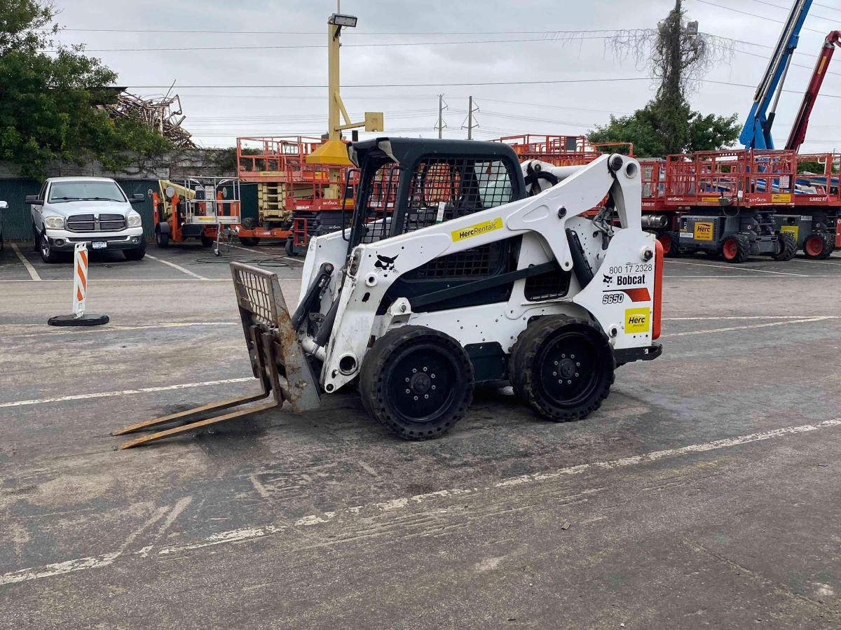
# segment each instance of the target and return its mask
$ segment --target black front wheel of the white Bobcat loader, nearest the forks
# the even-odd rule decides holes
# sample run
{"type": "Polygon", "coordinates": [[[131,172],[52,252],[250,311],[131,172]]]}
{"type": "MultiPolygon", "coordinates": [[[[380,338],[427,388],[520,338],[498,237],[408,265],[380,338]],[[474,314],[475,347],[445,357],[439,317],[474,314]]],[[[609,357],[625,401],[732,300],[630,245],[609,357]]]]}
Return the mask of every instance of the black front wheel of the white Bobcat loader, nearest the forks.
{"type": "MultiPolygon", "coordinates": [[[[420,365],[420,363],[419,363],[420,365]]],[[[424,365],[423,367],[426,367],[424,365]]],[[[411,368],[418,377],[424,375],[411,368]]],[[[421,368],[422,369],[422,368],[421,368]]],[[[411,378],[414,380],[415,376],[411,378]]],[[[440,386],[440,380],[438,386],[440,386]]],[[[394,328],[383,337],[377,339],[373,347],[368,350],[362,360],[362,371],[359,375],[359,394],[362,406],[389,431],[399,438],[407,440],[425,440],[438,438],[447,433],[455,423],[458,423],[467,412],[473,401],[473,364],[461,344],[449,335],[439,330],[425,326],[401,326],[394,328]],[[441,406],[430,410],[426,417],[410,417],[405,413],[406,408],[422,409],[423,402],[410,402],[408,396],[431,392],[436,386],[436,368],[432,368],[426,379],[418,379],[415,393],[404,394],[404,375],[409,370],[413,360],[418,360],[412,354],[416,352],[433,353],[425,357],[421,363],[433,360],[444,377],[447,386],[441,406]],[[399,388],[399,392],[397,391],[399,388]],[[398,396],[407,396],[400,400],[398,396]],[[401,409],[401,406],[404,408],[401,409]]],[[[431,394],[431,404],[435,404],[435,397],[441,394],[431,394]]]]}

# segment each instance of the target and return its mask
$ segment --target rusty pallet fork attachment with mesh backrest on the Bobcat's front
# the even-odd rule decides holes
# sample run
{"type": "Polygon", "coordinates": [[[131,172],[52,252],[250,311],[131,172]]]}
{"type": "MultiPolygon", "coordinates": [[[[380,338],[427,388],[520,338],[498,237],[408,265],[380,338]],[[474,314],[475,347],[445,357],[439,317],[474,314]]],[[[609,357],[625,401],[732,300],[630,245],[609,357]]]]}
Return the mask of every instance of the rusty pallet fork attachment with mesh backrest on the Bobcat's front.
{"type": "Polygon", "coordinates": [[[153,420],[121,428],[114,431],[112,435],[155,430],[164,425],[180,423],[177,426],[130,440],[121,444],[120,449],[131,449],[211,424],[246,417],[273,407],[280,407],[284,401],[289,402],[295,412],[304,412],[319,406],[318,381],[310,369],[304,349],[301,348],[297,333],[292,326],[277,274],[241,263],[231,263],[230,270],[234,276],[234,289],[240,309],[242,330],[246,336],[248,354],[251,356],[251,370],[255,378],[260,380],[260,393],[193,407],[183,412],[156,417],[153,420]],[[262,400],[270,395],[274,397],[273,402],[237,409],[218,416],[203,417],[210,412],[238,407],[248,402],[262,400]]]}

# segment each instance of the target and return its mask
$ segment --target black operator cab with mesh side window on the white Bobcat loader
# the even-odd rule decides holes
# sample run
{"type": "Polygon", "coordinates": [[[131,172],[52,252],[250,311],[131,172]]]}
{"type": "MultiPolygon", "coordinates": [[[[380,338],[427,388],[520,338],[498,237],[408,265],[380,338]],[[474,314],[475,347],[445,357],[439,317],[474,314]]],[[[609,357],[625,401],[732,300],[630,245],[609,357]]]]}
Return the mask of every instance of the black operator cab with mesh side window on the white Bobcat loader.
{"type": "MultiPolygon", "coordinates": [[[[463,140],[378,138],[352,144],[360,167],[348,255],[374,243],[436,223],[502,206],[527,196],[517,155],[507,144],[463,140]]],[[[516,270],[521,237],[431,260],[399,277],[383,297],[384,311],[398,297],[410,300],[516,270]]],[[[426,306],[428,311],[503,301],[513,283],[426,306]]]]}

